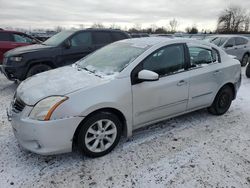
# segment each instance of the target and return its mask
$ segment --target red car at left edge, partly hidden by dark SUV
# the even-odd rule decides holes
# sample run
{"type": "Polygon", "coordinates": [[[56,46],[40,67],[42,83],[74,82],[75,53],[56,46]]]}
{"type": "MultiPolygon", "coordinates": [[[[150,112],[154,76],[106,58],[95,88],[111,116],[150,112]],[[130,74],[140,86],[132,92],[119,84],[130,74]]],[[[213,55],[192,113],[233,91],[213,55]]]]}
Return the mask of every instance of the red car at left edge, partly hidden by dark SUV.
{"type": "Polygon", "coordinates": [[[3,54],[11,49],[27,46],[31,44],[39,44],[40,41],[17,31],[0,30],[0,64],[3,61],[3,54]]]}

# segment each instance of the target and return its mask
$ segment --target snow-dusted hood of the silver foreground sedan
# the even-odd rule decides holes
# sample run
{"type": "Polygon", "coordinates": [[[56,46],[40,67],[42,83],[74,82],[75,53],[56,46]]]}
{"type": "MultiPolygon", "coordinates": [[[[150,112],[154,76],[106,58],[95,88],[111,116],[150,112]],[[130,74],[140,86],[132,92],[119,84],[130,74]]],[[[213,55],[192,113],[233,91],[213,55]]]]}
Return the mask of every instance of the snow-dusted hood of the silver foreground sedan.
{"type": "Polygon", "coordinates": [[[80,89],[89,89],[109,82],[111,77],[100,77],[74,66],[66,66],[37,74],[23,81],[17,88],[16,97],[27,105],[56,95],[67,95],[80,89]]]}

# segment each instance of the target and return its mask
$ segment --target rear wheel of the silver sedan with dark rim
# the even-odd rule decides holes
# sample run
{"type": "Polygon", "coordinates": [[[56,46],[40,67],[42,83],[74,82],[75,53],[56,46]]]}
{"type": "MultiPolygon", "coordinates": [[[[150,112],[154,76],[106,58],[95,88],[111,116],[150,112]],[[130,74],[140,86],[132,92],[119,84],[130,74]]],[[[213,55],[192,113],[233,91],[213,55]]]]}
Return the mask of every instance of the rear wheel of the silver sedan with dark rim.
{"type": "Polygon", "coordinates": [[[219,90],[213,104],[208,108],[208,112],[213,115],[223,115],[230,108],[232,100],[232,88],[226,85],[219,90]]]}

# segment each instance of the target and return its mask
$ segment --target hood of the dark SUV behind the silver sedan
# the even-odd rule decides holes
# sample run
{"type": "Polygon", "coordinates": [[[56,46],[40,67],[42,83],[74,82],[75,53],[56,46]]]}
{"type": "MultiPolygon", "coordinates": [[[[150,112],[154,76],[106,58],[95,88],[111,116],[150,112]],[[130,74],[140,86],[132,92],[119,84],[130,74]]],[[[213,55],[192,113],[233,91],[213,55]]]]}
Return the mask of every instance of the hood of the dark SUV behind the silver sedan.
{"type": "Polygon", "coordinates": [[[42,44],[22,46],[22,47],[14,48],[6,52],[5,57],[17,56],[17,55],[24,54],[24,53],[30,53],[30,52],[35,52],[35,51],[40,51],[40,50],[45,50],[45,49],[50,49],[50,48],[54,48],[54,47],[46,46],[42,44]]]}

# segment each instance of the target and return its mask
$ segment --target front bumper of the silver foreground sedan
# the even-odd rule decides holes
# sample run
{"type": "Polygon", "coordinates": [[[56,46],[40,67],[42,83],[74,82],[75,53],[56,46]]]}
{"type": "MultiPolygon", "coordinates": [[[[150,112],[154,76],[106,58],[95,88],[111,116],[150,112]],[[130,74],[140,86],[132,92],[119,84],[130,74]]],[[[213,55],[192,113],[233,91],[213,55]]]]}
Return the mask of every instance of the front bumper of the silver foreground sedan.
{"type": "Polygon", "coordinates": [[[75,130],[83,119],[70,117],[37,121],[18,114],[11,114],[9,118],[18,143],[24,149],[41,155],[71,152],[75,130]]]}

